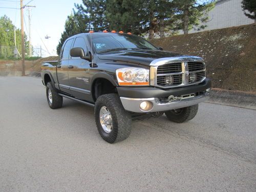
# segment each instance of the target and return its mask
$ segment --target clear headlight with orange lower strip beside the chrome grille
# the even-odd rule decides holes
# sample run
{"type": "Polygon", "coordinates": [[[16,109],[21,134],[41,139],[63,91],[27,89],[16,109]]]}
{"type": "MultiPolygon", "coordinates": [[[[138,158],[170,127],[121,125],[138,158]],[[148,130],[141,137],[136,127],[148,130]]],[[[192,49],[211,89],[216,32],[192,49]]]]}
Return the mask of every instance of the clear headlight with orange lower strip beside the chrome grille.
{"type": "Polygon", "coordinates": [[[127,67],[116,70],[119,86],[149,86],[150,70],[127,67]]]}

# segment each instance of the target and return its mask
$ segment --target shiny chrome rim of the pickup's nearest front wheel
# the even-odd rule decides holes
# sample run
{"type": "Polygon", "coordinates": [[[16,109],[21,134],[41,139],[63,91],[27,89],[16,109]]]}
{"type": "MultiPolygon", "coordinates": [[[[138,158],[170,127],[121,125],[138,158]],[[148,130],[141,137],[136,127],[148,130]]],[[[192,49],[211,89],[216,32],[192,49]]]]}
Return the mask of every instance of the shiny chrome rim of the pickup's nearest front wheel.
{"type": "Polygon", "coordinates": [[[99,111],[99,120],[100,124],[102,126],[102,129],[106,133],[111,133],[112,132],[112,116],[108,108],[105,106],[102,106],[99,111]]]}

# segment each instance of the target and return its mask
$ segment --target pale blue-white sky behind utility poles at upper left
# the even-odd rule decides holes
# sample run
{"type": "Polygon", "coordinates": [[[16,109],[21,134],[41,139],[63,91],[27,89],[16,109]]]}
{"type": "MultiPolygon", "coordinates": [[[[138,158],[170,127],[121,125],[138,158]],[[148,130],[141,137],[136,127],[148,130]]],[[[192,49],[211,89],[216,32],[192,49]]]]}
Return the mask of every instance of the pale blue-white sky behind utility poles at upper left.
{"type": "MultiPolygon", "coordinates": [[[[57,55],[56,47],[64,30],[67,16],[75,7],[74,3],[82,4],[82,0],[24,0],[23,5],[36,6],[31,8],[31,42],[33,48],[41,46],[43,57],[57,55]],[[46,39],[47,35],[51,38],[46,39]]],[[[0,0],[0,7],[19,8],[20,0],[0,0]]],[[[4,15],[7,15],[16,28],[20,29],[19,9],[0,8],[0,17],[4,15]]],[[[24,30],[28,35],[28,8],[24,9],[24,19],[24,30]]]]}

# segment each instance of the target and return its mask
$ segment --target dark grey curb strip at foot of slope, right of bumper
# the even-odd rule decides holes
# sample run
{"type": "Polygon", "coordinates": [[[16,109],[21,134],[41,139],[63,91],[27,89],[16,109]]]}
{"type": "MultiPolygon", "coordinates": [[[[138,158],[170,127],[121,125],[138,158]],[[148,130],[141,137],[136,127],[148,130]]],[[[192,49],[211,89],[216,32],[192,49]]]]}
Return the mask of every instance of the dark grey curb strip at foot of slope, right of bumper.
{"type": "Polygon", "coordinates": [[[206,102],[256,110],[256,94],[247,92],[212,89],[206,102]]]}

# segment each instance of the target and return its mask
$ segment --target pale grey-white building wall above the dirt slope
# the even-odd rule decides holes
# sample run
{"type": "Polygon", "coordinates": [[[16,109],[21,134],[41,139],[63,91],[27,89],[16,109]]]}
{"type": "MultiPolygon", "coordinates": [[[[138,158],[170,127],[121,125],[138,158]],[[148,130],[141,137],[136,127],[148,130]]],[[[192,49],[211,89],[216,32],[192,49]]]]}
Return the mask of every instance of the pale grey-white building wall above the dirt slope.
{"type": "MultiPolygon", "coordinates": [[[[208,14],[209,22],[205,24],[207,27],[200,31],[222,29],[254,23],[253,19],[245,16],[241,7],[241,2],[242,0],[217,0],[215,8],[212,9],[208,14]]],[[[190,30],[189,33],[200,31],[193,29],[190,30]]]]}

